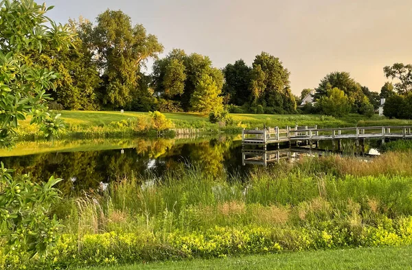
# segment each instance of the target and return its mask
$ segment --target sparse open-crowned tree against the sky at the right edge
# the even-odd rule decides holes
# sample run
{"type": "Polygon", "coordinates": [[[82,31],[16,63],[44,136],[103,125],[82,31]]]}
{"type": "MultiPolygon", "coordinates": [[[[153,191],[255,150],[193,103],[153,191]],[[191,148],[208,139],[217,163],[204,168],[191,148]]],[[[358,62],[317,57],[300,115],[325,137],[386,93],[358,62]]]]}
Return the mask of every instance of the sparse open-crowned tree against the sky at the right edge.
{"type": "Polygon", "coordinates": [[[387,78],[399,80],[395,84],[398,94],[412,92],[412,64],[395,63],[392,66],[385,66],[383,72],[387,78]]]}

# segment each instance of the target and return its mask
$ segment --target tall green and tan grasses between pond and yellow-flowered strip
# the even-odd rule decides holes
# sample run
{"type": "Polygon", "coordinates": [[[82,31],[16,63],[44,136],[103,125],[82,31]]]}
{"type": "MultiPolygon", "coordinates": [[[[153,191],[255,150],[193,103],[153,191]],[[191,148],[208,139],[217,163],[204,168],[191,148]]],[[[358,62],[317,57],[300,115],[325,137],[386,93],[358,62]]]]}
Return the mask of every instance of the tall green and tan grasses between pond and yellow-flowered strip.
{"type": "Polygon", "coordinates": [[[306,158],[257,169],[244,179],[214,177],[201,166],[186,165],[160,178],[130,175],[105,192],[58,206],[71,209],[69,214],[56,212],[67,221],[69,232],[79,234],[319,225],[347,220],[354,211],[356,222],[374,223],[378,217],[412,215],[409,156],[411,152],[388,153],[371,161],[306,158]]]}

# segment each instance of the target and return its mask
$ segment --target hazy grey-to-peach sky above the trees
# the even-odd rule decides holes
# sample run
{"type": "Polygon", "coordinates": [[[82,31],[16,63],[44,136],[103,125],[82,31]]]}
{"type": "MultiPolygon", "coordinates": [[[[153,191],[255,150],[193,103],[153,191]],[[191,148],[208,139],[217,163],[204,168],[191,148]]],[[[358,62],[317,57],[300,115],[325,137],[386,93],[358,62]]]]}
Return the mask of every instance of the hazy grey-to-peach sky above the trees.
{"type": "MultiPolygon", "coordinates": [[[[122,10],[165,47],[201,53],[222,68],[262,51],[290,71],[293,93],[315,88],[332,71],[347,71],[370,90],[388,81],[383,67],[412,63],[411,0],[46,0],[65,23],[95,21],[122,10]]],[[[149,62],[149,65],[151,62],[149,62]]]]}

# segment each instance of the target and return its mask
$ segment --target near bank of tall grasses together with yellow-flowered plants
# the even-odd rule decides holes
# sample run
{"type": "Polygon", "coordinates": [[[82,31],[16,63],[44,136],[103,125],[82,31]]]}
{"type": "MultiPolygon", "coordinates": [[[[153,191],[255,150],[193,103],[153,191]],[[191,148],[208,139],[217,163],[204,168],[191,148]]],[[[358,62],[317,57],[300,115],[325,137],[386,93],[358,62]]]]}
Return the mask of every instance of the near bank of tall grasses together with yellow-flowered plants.
{"type": "Polygon", "coordinates": [[[410,245],[411,155],[306,158],[244,178],[185,164],[161,178],[128,175],[54,205],[65,228],[47,257],[4,255],[2,245],[0,265],[60,269],[410,245]]]}

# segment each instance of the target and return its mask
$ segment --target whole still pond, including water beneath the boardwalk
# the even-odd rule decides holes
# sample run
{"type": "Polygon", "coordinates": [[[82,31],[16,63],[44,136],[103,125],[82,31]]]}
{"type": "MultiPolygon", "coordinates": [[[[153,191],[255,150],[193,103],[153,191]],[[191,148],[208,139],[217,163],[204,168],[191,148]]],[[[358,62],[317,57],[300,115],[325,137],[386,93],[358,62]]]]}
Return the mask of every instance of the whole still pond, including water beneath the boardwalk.
{"type": "MultiPolygon", "coordinates": [[[[360,149],[353,141],[344,141],[339,153],[378,154],[375,145],[376,142],[370,141],[360,149]]],[[[332,142],[324,141],[317,149],[289,149],[285,145],[279,152],[288,160],[296,160],[302,156],[328,154],[330,149],[332,142]]],[[[36,181],[47,180],[51,175],[61,177],[71,182],[76,191],[98,188],[101,183],[130,175],[161,177],[190,164],[197,164],[216,177],[242,177],[257,166],[242,160],[240,136],[25,142],[10,151],[1,150],[0,161],[16,173],[30,173],[36,181]]]]}

